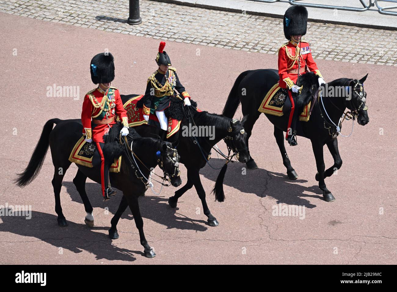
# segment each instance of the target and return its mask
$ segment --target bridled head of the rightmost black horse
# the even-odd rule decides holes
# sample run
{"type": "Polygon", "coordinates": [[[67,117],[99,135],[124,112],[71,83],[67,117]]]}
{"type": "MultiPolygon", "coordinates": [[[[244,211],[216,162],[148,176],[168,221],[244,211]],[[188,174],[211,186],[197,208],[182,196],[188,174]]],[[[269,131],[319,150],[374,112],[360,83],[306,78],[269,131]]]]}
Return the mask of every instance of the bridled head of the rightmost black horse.
{"type": "Polygon", "coordinates": [[[367,79],[367,76],[368,74],[360,80],[351,80],[347,89],[349,91],[349,96],[345,99],[346,107],[357,117],[358,124],[362,126],[368,124],[370,121],[367,113],[368,106],[365,104],[367,93],[364,90],[364,81],[367,79]]]}

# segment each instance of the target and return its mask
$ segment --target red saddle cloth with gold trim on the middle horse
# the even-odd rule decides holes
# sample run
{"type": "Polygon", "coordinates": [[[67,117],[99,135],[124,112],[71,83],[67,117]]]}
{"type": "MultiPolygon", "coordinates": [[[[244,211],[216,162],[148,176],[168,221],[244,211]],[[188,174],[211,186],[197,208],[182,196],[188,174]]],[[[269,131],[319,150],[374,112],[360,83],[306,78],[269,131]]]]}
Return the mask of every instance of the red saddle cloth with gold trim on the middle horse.
{"type": "MultiPolygon", "coordinates": [[[[130,127],[141,126],[143,124],[148,123],[143,118],[143,108],[137,107],[137,102],[142,97],[143,95],[138,95],[136,97],[133,97],[132,99],[129,99],[124,104],[124,108],[127,111],[128,125],[130,127]]],[[[158,118],[155,114],[150,114],[149,119],[157,123],[158,126],[160,127],[160,123],[158,122],[158,118]]],[[[178,121],[173,118],[168,118],[167,138],[170,138],[173,134],[179,131],[180,126],[181,126],[181,121],[178,121]]]]}

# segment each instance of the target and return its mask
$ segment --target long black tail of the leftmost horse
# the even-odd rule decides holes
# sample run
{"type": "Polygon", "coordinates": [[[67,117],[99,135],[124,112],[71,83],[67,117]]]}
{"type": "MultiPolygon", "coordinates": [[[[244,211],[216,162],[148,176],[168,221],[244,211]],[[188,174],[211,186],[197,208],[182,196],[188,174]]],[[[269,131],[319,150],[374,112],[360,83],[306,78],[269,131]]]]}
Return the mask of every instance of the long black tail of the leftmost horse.
{"type": "Polygon", "coordinates": [[[17,174],[14,183],[19,187],[24,187],[30,184],[39,174],[44,158],[46,157],[48,145],[50,143],[49,137],[54,124],[59,123],[60,119],[51,119],[46,122],[41,132],[39,142],[33,151],[29,164],[22,173],[17,174]]]}

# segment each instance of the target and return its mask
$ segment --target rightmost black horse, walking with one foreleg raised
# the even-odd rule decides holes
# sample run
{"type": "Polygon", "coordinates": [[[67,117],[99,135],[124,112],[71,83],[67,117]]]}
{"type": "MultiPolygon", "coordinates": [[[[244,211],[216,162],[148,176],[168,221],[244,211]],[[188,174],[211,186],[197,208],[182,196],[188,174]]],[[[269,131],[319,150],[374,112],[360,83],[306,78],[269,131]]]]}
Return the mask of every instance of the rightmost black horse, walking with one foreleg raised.
{"type": "MultiPolygon", "coordinates": [[[[358,124],[362,126],[369,122],[366,110],[367,107],[365,105],[366,92],[363,88],[363,83],[367,75],[360,80],[340,78],[328,83],[324,86],[322,92],[327,88],[329,90],[335,89],[333,91],[334,96],[331,97],[330,94],[327,94],[328,97],[324,97],[321,95],[324,98],[319,98],[318,102],[314,104],[310,120],[308,122],[297,122],[297,135],[310,139],[312,143],[317,166],[316,180],[319,182],[318,186],[323,191],[324,199],[328,202],[334,201],[335,198],[327,189],[324,179],[331,176],[333,172],[342,165],[336,139],[338,135],[336,126],[340,128],[341,124],[339,124],[339,120],[343,112],[348,108],[353,115],[353,119],[357,117],[358,124]],[[346,94],[349,92],[350,97],[349,94],[346,94]],[[334,160],[333,166],[327,170],[325,170],[323,157],[324,145],[327,145],[334,160]]],[[[278,80],[279,75],[277,70],[258,69],[245,71],[237,77],[229,93],[223,114],[232,118],[241,102],[243,114],[249,115],[248,120],[245,122],[247,146],[249,145],[248,140],[252,133],[252,127],[260,116],[258,108],[266,93],[278,80]]],[[[318,89],[318,77],[313,73],[306,73],[299,77],[298,85],[303,85],[302,94],[298,97],[297,101],[297,108],[301,109],[302,105],[307,103],[307,101],[313,97],[314,93],[316,93],[318,89]]],[[[314,103],[314,100],[312,103],[314,103]]],[[[283,116],[274,116],[270,114],[265,114],[265,116],[274,125],[274,137],[276,138],[281,156],[283,157],[284,166],[287,168],[288,178],[295,180],[298,176],[291,166],[291,162],[289,161],[284,147],[283,131],[287,130],[289,113],[284,112],[283,116]]],[[[247,167],[250,169],[257,168],[252,156],[247,162],[247,167]]]]}

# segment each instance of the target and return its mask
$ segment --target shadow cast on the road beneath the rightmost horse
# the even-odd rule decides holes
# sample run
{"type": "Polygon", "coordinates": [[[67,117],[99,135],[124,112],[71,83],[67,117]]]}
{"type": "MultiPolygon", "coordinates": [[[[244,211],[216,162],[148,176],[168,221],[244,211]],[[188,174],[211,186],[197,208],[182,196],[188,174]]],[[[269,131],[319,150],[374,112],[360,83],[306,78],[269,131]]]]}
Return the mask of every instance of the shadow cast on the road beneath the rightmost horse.
{"type": "MultiPolygon", "coordinates": [[[[225,162],[223,159],[211,159],[210,163],[213,167],[221,167],[225,162]]],[[[262,168],[247,169],[246,174],[243,174],[243,167],[245,167],[245,164],[240,162],[229,163],[224,185],[233,187],[242,193],[254,193],[258,197],[273,197],[277,200],[277,203],[301,205],[306,208],[316,207],[306,198],[323,199],[322,191],[317,185],[305,187],[300,184],[306,183],[307,180],[290,180],[286,174],[271,172],[262,168]]],[[[207,164],[200,171],[200,174],[215,182],[219,170],[213,170],[207,164]]],[[[209,193],[210,190],[206,191],[209,193]]],[[[225,193],[225,196],[227,199],[227,193],[225,193]]]]}

